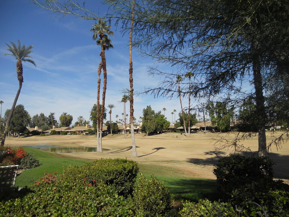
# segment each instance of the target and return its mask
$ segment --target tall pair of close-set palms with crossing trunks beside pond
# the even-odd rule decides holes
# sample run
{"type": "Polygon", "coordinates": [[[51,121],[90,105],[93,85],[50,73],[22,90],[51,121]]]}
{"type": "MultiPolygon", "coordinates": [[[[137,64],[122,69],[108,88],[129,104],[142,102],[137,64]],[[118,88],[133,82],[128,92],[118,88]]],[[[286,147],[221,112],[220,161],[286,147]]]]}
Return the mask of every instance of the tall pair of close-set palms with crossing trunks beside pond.
{"type": "Polygon", "coordinates": [[[102,124],[103,124],[103,115],[104,115],[104,104],[105,104],[105,94],[106,94],[106,85],[107,85],[107,71],[106,71],[106,59],[105,59],[105,50],[113,48],[111,45],[111,40],[107,36],[114,36],[113,32],[109,29],[110,25],[106,25],[106,21],[98,20],[97,24],[92,25],[94,34],[92,36],[93,40],[96,40],[96,44],[101,46],[101,62],[98,65],[98,88],[97,88],[97,151],[102,152],[102,124]],[[98,39],[99,36],[99,39],[98,39]],[[103,89],[102,89],[102,104],[101,104],[101,114],[99,115],[99,98],[100,98],[100,74],[101,69],[103,71],[103,89]]]}

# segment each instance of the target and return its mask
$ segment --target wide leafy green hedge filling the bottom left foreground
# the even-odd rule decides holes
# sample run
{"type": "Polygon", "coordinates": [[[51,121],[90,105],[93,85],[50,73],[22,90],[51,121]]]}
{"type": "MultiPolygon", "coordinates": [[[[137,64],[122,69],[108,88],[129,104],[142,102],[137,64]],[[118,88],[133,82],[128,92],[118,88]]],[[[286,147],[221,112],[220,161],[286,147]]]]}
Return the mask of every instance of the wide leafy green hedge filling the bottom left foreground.
{"type": "Polygon", "coordinates": [[[0,216],[136,216],[132,202],[103,184],[34,185],[32,192],[23,189],[17,194],[0,202],[0,216]]]}

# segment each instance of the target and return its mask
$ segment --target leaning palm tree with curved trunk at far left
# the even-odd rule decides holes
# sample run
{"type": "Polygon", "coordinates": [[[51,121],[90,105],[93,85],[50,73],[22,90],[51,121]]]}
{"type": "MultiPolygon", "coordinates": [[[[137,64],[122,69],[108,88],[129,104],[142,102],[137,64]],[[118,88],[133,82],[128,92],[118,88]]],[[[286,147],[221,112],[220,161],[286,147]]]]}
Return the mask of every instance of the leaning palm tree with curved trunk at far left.
{"type": "Polygon", "coordinates": [[[16,96],[15,96],[12,108],[10,110],[9,116],[7,118],[6,127],[5,127],[3,138],[2,138],[2,141],[1,141],[1,146],[4,146],[5,137],[7,135],[8,127],[10,125],[10,121],[11,121],[11,118],[12,118],[12,115],[13,115],[13,112],[14,112],[14,109],[15,109],[19,94],[20,94],[22,83],[23,83],[22,61],[23,62],[30,62],[30,63],[32,63],[33,65],[36,66],[35,62],[33,60],[31,60],[31,56],[29,55],[31,52],[33,52],[31,50],[33,48],[32,45],[27,46],[27,47],[26,47],[26,45],[23,45],[21,47],[21,43],[20,43],[19,40],[18,40],[18,45],[17,46],[13,42],[11,42],[12,46],[10,46],[8,44],[6,44],[6,45],[8,46],[7,50],[10,51],[11,53],[6,53],[5,55],[14,56],[16,58],[16,60],[17,60],[17,62],[16,62],[16,72],[17,72],[17,78],[18,78],[18,81],[19,81],[19,88],[18,88],[18,91],[16,93],[16,96]]]}

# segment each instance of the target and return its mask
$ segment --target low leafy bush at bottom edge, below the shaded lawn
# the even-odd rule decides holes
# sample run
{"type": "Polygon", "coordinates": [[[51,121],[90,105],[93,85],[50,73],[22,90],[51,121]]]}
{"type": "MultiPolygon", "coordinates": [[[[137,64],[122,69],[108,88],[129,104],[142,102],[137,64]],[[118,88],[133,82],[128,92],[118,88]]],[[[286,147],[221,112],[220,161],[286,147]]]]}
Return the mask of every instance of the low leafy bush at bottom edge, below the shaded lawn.
{"type": "Polygon", "coordinates": [[[229,203],[210,200],[199,200],[198,203],[183,203],[183,209],[179,212],[181,217],[237,217],[236,210],[229,203]]]}

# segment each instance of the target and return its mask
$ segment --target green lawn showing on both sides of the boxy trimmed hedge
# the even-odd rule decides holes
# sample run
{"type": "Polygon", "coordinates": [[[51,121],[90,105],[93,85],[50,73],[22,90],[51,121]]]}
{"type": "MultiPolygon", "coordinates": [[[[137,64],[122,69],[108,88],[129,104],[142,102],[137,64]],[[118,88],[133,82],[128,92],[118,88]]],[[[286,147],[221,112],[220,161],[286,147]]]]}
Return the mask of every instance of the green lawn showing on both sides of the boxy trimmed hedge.
{"type": "MultiPolygon", "coordinates": [[[[61,154],[45,152],[33,148],[24,148],[27,152],[36,153],[40,166],[25,170],[17,176],[16,186],[24,187],[33,184],[44,173],[61,173],[66,165],[83,165],[88,160],[68,158],[61,154]]],[[[139,164],[140,172],[147,179],[153,174],[157,179],[163,180],[170,193],[176,200],[190,200],[197,202],[199,199],[217,199],[217,183],[210,179],[187,178],[174,168],[159,165],[139,164]]]]}

